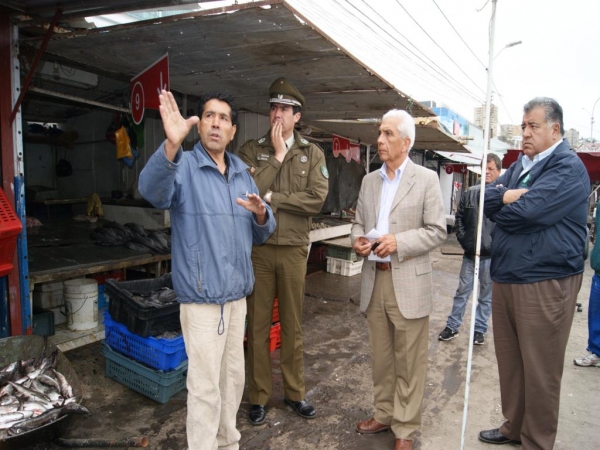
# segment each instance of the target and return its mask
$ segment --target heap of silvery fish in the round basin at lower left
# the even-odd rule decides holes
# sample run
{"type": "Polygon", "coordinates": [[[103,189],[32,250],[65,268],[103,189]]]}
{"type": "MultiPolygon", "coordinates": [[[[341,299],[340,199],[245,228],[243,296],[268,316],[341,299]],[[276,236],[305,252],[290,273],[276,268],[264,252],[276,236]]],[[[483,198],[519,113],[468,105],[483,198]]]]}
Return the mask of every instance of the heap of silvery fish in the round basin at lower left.
{"type": "Polygon", "coordinates": [[[0,439],[54,422],[65,414],[89,411],[56,370],[58,351],[49,357],[18,360],[0,369],[0,439]]]}

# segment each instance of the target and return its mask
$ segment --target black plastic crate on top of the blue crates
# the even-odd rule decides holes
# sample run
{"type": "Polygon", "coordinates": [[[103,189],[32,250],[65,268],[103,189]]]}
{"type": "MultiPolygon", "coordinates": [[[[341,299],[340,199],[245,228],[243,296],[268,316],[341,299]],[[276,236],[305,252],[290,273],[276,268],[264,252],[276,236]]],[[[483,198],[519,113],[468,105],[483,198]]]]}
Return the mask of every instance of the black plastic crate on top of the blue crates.
{"type": "Polygon", "coordinates": [[[163,287],[173,288],[171,274],[151,280],[106,280],[106,293],[110,298],[108,312],[113,320],[142,337],[180,330],[179,303],[163,308],[143,307],[133,299],[134,293],[145,294],[163,287]]]}

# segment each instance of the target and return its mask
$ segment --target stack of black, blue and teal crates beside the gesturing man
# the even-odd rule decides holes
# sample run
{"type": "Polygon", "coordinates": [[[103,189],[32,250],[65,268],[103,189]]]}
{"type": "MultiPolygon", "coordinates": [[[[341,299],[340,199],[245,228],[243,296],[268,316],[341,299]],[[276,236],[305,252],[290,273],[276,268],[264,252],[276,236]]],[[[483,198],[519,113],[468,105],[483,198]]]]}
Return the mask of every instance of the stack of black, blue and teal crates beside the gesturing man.
{"type": "Polygon", "coordinates": [[[106,376],[159,403],[167,403],[186,386],[187,354],[183,336],[156,338],[179,331],[179,303],[143,307],[134,295],[172,288],[171,275],[158,279],[106,281],[110,297],[104,313],[106,376]]]}

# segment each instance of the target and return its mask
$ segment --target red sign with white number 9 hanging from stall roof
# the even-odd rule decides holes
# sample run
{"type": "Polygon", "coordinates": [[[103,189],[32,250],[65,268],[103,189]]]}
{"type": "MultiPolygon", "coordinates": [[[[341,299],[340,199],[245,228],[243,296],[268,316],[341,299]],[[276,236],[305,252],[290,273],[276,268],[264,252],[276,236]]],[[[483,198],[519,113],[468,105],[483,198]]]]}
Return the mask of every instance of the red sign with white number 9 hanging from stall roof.
{"type": "Polygon", "coordinates": [[[169,90],[169,54],[131,79],[131,115],[138,125],[144,118],[146,108],[158,109],[158,96],[162,89],[169,90]]]}

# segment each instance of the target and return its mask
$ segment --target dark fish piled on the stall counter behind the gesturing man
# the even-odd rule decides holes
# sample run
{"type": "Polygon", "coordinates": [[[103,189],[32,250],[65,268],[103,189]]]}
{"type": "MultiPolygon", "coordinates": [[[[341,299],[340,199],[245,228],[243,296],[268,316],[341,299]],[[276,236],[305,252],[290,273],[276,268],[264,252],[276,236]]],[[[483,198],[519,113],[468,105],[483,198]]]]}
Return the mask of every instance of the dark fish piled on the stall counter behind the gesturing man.
{"type": "Polygon", "coordinates": [[[100,245],[125,245],[131,250],[166,255],[171,253],[171,236],[160,230],[146,230],[138,223],[107,222],[91,238],[100,245]]]}

